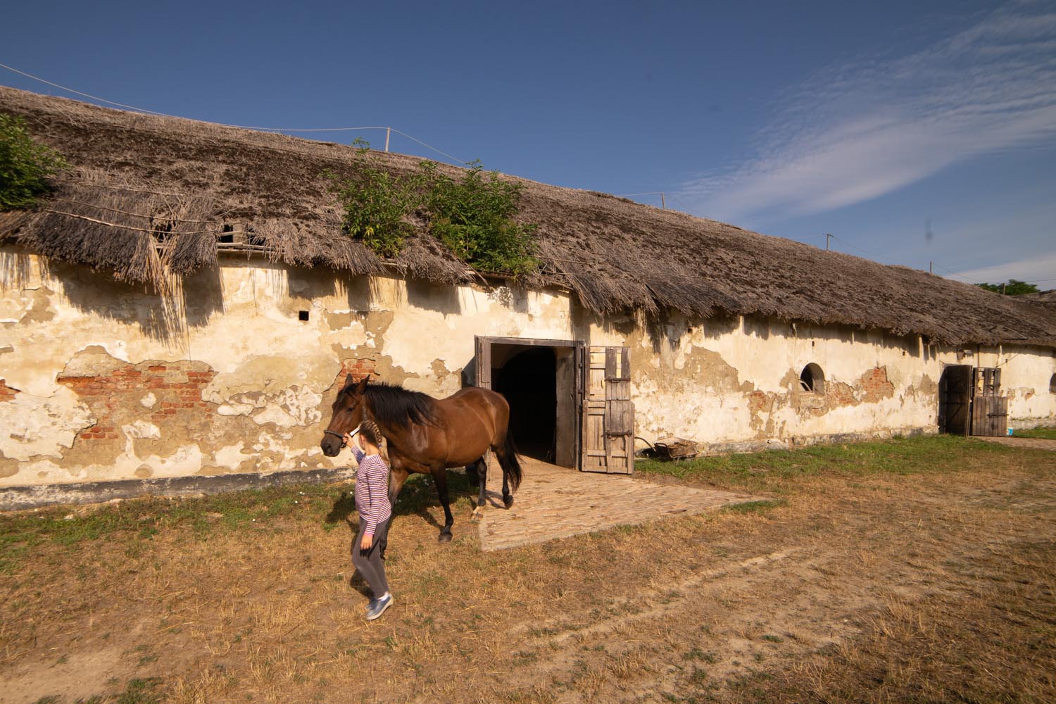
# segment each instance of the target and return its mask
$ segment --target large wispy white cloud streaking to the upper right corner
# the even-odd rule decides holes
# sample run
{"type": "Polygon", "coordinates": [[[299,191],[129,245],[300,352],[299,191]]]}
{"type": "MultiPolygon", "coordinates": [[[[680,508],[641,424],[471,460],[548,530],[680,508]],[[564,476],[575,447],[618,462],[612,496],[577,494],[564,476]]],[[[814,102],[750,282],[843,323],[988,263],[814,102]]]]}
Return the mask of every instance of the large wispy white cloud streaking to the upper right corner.
{"type": "Polygon", "coordinates": [[[678,196],[710,217],[790,216],[867,201],[957,161],[1056,136],[1056,9],[1018,2],[926,51],[799,85],[756,156],[678,196]]]}

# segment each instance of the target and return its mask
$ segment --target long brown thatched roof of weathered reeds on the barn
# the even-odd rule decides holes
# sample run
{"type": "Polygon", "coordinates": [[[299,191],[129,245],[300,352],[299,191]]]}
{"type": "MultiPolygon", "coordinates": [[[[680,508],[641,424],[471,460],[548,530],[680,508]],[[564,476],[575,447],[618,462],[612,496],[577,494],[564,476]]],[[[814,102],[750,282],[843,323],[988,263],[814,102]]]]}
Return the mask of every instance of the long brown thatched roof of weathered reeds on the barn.
{"type": "MultiPolygon", "coordinates": [[[[155,285],[212,266],[225,249],[352,274],[396,267],[437,283],[477,279],[425,232],[393,262],[341,233],[319,174],[350,173],[351,147],[2,87],[0,112],[23,116],[75,167],[38,211],[0,215],[0,239],[39,253],[155,285]],[[159,224],[168,229],[161,247],[159,224]]],[[[394,172],[420,160],[379,158],[394,172]]],[[[611,195],[524,183],[518,217],[539,224],[545,265],[524,284],[566,287],[599,313],[761,315],[948,344],[1056,347],[1056,316],[1042,306],[611,195]]]]}

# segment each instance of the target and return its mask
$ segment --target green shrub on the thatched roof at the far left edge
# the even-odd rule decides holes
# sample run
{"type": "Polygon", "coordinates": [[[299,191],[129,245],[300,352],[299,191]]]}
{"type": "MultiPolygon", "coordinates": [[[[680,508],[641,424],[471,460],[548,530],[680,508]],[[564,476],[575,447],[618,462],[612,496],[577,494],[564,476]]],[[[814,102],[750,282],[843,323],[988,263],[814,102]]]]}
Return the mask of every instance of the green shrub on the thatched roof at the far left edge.
{"type": "Polygon", "coordinates": [[[68,168],[61,154],[33,140],[21,117],[0,114],[0,211],[33,208],[48,177],[68,168]]]}

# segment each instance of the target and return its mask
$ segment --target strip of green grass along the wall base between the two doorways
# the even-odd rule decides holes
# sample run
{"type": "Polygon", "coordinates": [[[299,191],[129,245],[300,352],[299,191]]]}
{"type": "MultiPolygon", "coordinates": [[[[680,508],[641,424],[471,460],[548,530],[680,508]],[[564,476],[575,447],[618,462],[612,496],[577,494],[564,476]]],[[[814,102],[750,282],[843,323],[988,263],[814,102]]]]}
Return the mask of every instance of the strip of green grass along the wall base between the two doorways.
{"type": "MultiPolygon", "coordinates": [[[[703,481],[724,489],[787,493],[796,479],[817,475],[861,478],[875,475],[921,474],[963,469],[967,455],[999,456],[1007,448],[972,438],[934,435],[876,442],[813,445],[802,450],[698,457],[680,462],[639,459],[635,469],[703,481]]],[[[759,507],[765,508],[765,507],[759,507]]],[[[754,510],[754,509],[744,509],[754,510]]]]}

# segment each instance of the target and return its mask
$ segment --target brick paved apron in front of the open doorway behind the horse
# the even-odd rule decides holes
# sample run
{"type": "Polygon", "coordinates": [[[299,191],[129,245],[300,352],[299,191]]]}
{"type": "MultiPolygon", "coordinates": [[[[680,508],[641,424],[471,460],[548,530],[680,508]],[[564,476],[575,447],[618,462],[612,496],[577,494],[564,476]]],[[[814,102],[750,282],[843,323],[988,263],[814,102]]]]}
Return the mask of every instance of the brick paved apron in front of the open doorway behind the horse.
{"type": "Polygon", "coordinates": [[[675,514],[703,513],[753,499],[747,494],[578,472],[530,457],[522,457],[521,462],[524,481],[508,511],[502,508],[502,470],[494,460],[488,470],[489,501],[479,522],[484,551],[545,543],[675,514]]]}

